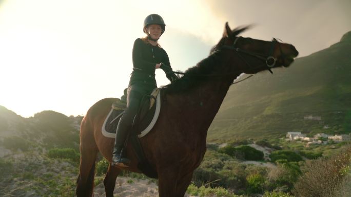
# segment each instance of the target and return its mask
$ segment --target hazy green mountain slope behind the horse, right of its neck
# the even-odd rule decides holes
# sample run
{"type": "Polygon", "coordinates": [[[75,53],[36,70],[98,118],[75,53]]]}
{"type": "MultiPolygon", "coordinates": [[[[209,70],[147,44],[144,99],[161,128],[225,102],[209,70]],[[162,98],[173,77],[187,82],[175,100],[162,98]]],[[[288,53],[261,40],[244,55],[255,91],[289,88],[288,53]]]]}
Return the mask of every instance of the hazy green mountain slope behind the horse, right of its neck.
{"type": "Polygon", "coordinates": [[[269,138],[286,132],[351,133],[351,32],[291,67],[232,85],[208,141],[269,138]],[[305,116],[321,120],[305,120],[305,116]]]}

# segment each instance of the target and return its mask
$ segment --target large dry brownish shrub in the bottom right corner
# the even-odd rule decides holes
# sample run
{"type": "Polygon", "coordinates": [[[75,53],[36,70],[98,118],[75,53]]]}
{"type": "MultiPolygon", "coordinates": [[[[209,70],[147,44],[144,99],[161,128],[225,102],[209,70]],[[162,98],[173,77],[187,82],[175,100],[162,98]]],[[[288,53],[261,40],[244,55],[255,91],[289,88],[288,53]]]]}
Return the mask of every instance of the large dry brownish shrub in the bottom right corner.
{"type": "Polygon", "coordinates": [[[330,158],[307,161],[303,175],[294,185],[294,194],[297,197],[340,197],[338,192],[349,176],[350,162],[351,146],[330,158]]]}

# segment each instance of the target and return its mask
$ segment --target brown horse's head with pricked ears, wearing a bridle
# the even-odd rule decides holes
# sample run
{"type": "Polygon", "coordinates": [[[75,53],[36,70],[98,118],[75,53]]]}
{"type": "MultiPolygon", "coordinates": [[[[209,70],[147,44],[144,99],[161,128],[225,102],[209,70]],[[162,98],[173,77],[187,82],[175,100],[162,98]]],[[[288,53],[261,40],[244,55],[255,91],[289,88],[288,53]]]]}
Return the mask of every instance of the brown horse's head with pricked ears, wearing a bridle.
{"type": "MultiPolygon", "coordinates": [[[[243,73],[257,73],[276,67],[288,67],[299,52],[293,45],[272,41],[263,41],[238,36],[249,27],[231,30],[228,23],[225,24],[223,37],[213,50],[226,50],[238,56],[243,62],[239,66],[243,73]]],[[[230,55],[232,55],[230,54],[230,55]]],[[[234,62],[233,62],[234,63],[234,62]]]]}

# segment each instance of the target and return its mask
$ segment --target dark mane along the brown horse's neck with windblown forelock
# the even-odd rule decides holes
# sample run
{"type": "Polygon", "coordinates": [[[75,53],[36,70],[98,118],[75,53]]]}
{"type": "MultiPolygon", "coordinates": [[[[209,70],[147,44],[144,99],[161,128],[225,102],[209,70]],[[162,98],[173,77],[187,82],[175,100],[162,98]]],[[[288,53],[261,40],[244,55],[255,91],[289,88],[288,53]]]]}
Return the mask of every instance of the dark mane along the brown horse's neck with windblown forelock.
{"type": "MultiPolygon", "coordinates": [[[[239,27],[232,31],[230,36],[237,36],[248,29],[249,26],[239,27]]],[[[167,93],[181,93],[191,90],[192,87],[198,86],[202,81],[208,79],[210,75],[222,68],[216,67],[222,63],[222,53],[220,47],[224,44],[225,38],[221,40],[210,50],[210,55],[197,63],[194,67],[189,68],[184,72],[184,75],[177,81],[166,85],[167,93]]],[[[212,77],[213,78],[213,77],[212,77]]]]}

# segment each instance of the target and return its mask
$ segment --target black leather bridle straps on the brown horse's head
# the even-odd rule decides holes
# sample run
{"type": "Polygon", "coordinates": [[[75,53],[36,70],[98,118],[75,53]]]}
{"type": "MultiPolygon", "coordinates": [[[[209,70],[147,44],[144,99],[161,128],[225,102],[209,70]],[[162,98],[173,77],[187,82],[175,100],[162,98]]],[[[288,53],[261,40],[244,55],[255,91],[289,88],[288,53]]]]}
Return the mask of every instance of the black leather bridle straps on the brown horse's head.
{"type": "MultiPolygon", "coordinates": [[[[250,55],[250,56],[253,56],[253,57],[256,57],[262,61],[265,62],[265,65],[267,66],[267,69],[270,73],[273,74],[273,72],[270,70],[271,68],[273,68],[275,65],[276,65],[276,62],[277,62],[277,58],[275,58],[273,56],[273,53],[274,53],[274,49],[276,47],[276,45],[279,43],[278,40],[276,38],[273,38],[272,40],[272,44],[271,44],[271,47],[270,47],[270,50],[269,50],[269,53],[268,55],[263,55],[263,54],[260,54],[260,53],[253,53],[253,52],[250,52],[250,51],[246,51],[246,50],[243,50],[243,49],[240,49],[238,47],[236,47],[236,43],[237,41],[239,40],[239,38],[242,38],[241,36],[240,37],[237,37],[234,42],[233,42],[233,45],[232,46],[227,46],[227,45],[224,45],[222,46],[221,48],[222,49],[229,49],[229,50],[233,50],[235,52],[238,53],[239,57],[250,67],[251,70],[253,69],[256,69],[258,67],[260,67],[261,65],[259,65],[258,67],[252,67],[247,61],[246,59],[240,55],[240,53],[243,53],[243,54],[247,54],[247,55],[250,55]]],[[[282,51],[282,48],[279,46],[279,49],[280,49],[280,53],[282,55],[282,57],[284,57],[284,54],[283,54],[283,51],[282,51]]],[[[284,58],[283,58],[283,61],[284,61],[284,58]]]]}

